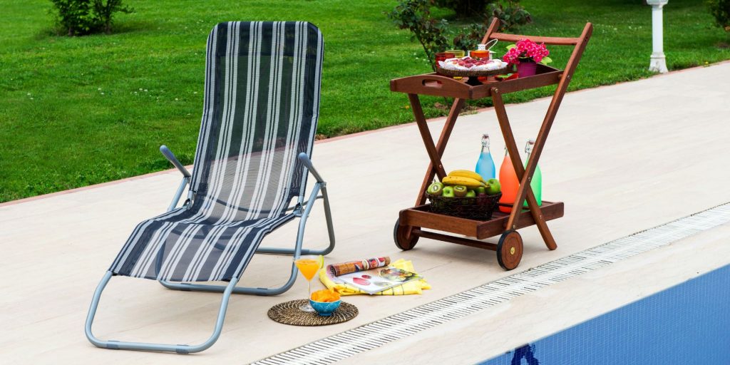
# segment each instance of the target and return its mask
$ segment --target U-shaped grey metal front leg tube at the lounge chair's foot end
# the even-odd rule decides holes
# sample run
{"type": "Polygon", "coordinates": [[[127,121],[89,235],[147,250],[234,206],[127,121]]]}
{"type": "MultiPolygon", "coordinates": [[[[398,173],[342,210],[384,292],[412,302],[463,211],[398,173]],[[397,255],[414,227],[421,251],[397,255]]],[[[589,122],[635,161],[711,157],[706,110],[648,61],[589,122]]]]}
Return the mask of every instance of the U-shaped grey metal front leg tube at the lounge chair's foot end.
{"type": "Polygon", "coordinates": [[[210,337],[199,345],[168,345],[168,344],[156,344],[147,342],[124,342],[114,340],[101,340],[96,338],[91,331],[91,325],[93,323],[94,315],[96,315],[96,308],[99,306],[99,299],[101,298],[101,292],[109,283],[112,278],[112,272],[108,271],[101,278],[101,282],[96,287],[96,291],[93,293],[93,299],[91,299],[91,307],[89,307],[88,315],[86,316],[85,334],[86,338],[96,347],[108,348],[112,350],[144,350],[144,351],[165,351],[170,353],[199,353],[202,350],[211,347],[215,341],[220,337],[220,331],[223,330],[223,320],[226,319],[226,310],[228,309],[228,299],[231,298],[231,293],[238,283],[238,278],[234,277],[231,282],[226,285],[223,291],[223,298],[220,300],[220,310],[218,310],[218,318],[215,320],[215,327],[210,337]]]}

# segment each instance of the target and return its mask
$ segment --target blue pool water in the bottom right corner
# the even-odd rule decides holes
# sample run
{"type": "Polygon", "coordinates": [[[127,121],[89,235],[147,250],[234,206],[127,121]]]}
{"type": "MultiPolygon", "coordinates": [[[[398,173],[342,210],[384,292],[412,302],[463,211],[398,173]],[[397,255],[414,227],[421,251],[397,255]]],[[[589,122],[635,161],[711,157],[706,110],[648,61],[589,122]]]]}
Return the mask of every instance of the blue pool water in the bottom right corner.
{"type": "Polygon", "coordinates": [[[730,265],[481,364],[730,364],[730,265]]]}

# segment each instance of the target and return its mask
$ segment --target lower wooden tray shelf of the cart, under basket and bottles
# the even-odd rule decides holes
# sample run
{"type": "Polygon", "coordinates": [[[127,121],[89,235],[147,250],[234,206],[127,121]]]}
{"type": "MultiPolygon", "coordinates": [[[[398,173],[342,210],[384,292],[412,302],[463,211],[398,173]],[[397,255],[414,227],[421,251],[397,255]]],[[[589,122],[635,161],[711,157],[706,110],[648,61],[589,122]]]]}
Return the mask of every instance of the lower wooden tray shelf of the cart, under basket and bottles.
{"type": "MultiPolygon", "coordinates": [[[[561,201],[542,201],[540,211],[542,212],[542,217],[546,221],[561,218],[564,212],[564,204],[561,201]]],[[[420,228],[429,228],[437,231],[450,232],[453,234],[463,234],[464,236],[476,237],[477,239],[485,239],[504,233],[504,231],[507,230],[505,225],[507,224],[507,220],[509,218],[509,213],[500,212],[499,210],[493,213],[490,220],[472,220],[467,218],[451,217],[449,215],[432,213],[430,211],[429,204],[423,204],[419,205],[418,207],[401,210],[399,215],[399,223],[400,226],[412,227],[411,233],[415,234],[415,236],[418,237],[435,238],[441,239],[442,241],[468,245],[467,242],[474,241],[469,239],[461,239],[460,237],[453,237],[454,239],[444,239],[444,237],[452,236],[423,231],[420,228]],[[437,238],[429,236],[439,237],[437,238]],[[460,242],[454,242],[455,240],[458,240],[460,242]]],[[[532,219],[532,215],[530,215],[529,212],[525,212],[525,214],[520,214],[516,228],[524,228],[527,226],[532,226],[534,224],[535,221],[532,219]]],[[[486,244],[487,242],[481,243],[486,244]]],[[[474,246],[479,247],[479,242],[475,242],[474,246]]]]}

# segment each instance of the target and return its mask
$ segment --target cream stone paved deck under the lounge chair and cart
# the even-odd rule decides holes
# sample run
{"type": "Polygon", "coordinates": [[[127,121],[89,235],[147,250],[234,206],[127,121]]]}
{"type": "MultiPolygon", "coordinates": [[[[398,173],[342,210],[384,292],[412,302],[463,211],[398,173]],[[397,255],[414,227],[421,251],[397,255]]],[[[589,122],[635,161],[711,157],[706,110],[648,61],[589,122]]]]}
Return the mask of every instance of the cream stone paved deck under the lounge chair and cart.
{"type": "MultiPolygon", "coordinates": [[[[565,202],[565,217],[548,222],[558,250],[548,251],[536,228],[520,230],[525,253],[515,272],[730,201],[726,188],[730,171],[723,169],[728,161],[730,89],[718,88],[718,80],[730,80],[730,63],[567,94],[541,158],[543,196],[565,202]]],[[[540,99],[507,106],[520,147],[537,133],[548,103],[549,99],[540,99]]],[[[442,123],[443,119],[429,123],[432,133],[437,134],[442,123]]],[[[500,164],[504,143],[496,116],[488,109],[459,119],[444,155],[446,169],[470,169],[483,132],[491,134],[491,150],[500,164]]],[[[7,364],[245,364],[514,273],[499,268],[491,251],[429,239],[421,239],[408,252],[395,247],[393,223],[399,210],[415,201],[428,164],[414,124],[320,142],[313,161],[328,183],[337,235],[337,247],[326,261],[374,255],[410,259],[434,286],[432,290],[420,296],[347,297],[360,315],[335,326],[299,328],[269,320],[266,310],[272,305],[306,296],[307,285],[300,278],[281,296],[231,298],[223,334],[203,353],[176,356],[93,347],[84,337],[83,324],[96,284],[134,225],[163,212],[180,181],[176,171],[150,174],[0,204],[0,274],[4,278],[0,359],[7,364]]],[[[285,242],[293,242],[295,232],[295,224],[284,226],[264,245],[285,247],[285,242]]],[[[706,234],[719,235],[710,241],[721,242],[726,233],[726,228],[715,228],[706,234]]],[[[325,245],[323,214],[317,207],[304,242],[309,247],[325,245]]],[[[707,245],[710,252],[715,249],[707,245]]],[[[644,266],[661,266],[659,256],[653,255],[631,260],[643,258],[644,266]]],[[[727,257],[722,250],[718,256],[727,257]]],[[[257,256],[242,285],[280,285],[290,265],[291,258],[286,256],[257,256]]],[[[681,272],[696,269],[673,267],[677,280],[683,277],[681,272]]],[[[661,272],[657,270],[656,277],[653,272],[646,269],[642,276],[642,293],[647,295],[664,283],[661,272]]],[[[590,279],[570,281],[574,280],[590,279]]],[[[612,285],[611,280],[604,282],[612,285]]],[[[570,283],[560,285],[559,290],[570,292],[570,283]]],[[[616,280],[615,285],[621,288],[626,283],[616,280]]],[[[524,296],[500,310],[509,307],[510,315],[518,317],[520,311],[534,312],[531,298],[543,294],[555,307],[563,296],[550,296],[551,290],[524,296]]],[[[210,335],[219,304],[220,294],[169,291],[149,280],[115,277],[101,298],[94,332],[102,339],[197,343],[210,335]]],[[[489,323],[494,330],[504,326],[502,319],[480,312],[445,327],[466,321],[469,331],[489,323]],[[469,320],[475,325],[468,325],[469,320]]],[[[530,323],[527,319],[515,325],[530,323]]],[[[561,329],[561,323],[569,325],[558,318],[534,326],[552,333],[561,329]]],[[[439,328],[430,331],[438,333],[439,328]]],[[[433,339],[424,337],[424,341],[433,339]]],[[[393,346],[407,343],[393,342],[350,361],[388,353],[393,346]]],[[[485,348],[480,358],[509,350],[499,348],[502,345],[509,344],[485,348]]],[[[421,358],[420,362],[429,361],[421,358]]]]}

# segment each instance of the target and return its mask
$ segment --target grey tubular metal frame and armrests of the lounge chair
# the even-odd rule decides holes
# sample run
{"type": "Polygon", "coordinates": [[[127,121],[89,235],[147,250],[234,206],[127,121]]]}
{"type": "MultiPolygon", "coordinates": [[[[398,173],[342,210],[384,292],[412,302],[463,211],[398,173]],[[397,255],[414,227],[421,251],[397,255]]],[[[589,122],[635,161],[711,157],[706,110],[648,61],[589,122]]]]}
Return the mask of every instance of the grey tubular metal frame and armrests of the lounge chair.
{"type": "MultiPolygon", "coordinates": [[[[166,146],[161,146],[160,151],[165,157],[183,174],[183,180],[180,182],[180,186],[177,188],[177,192],[172,199],[168,207],[169,210],[173,210],[177,207],[180,198],[183,196],[183,191],[190,183],[191,173],[188,169],[185,169],[183,164],[177,160],[175,155],[166,146]]],[[[256,253],[269,253],[278,255],[293,255],[298,258],[300,255],[326,255],[334,250],[334,228],[332,226],[332,215],[329,206],[329,199],[327,196],[327,183],[324,181],[322,176],[317,172],[315,167],[312,165],[310,157],[306,153],[299,153],[297,156],[299,161],[307,168],[317,180],[312,187],[309,199],[304,200],[304,196],[300,195],[297,203],[293,207],[289,207],[287,211],[292,211],[295,217],[299,218],[299,228],[296,233],[296,242],[293,249],[278,248],[278,247],[258,247],[256,253]],[[321,192],[321,195],[320,195],[321,192]],[[309,218],[312,207],[317,199],[323,199],[325,219],[327,222],[327,233],[329,236],[329,245],[323,250],[309,250],[302,248],[302,242],[304,240],[304,228],[307,225],[307,218],[309,218]]],[[[191,191],[192,193],[192,191],[191,191]]],[[[188,194],[188,200],[185,201],[184,205],[190,204],[193,198],[192,194],[188,194]]],[[[243,264],[243,262],[242,262],[243,264]]],[[[241,264],[241,265],[242,265],[241,264]]],[[[240,267],[237,272],[242,274],[240,267]]],[[[101,299],[101,292],[106,288],[107,283],[111,280],[114,274],[111,271],[107,271],[104,277],[101,278],[101,282],[96,287],[96,291],[93,293],[93,299],[91,300],[91,306],[89,307],[88,315],[86,316],[85,334],[86,338],[95,345],[96,347],[104,347],[112,350],[147,350],[147,351],[164,351],[174,353],[198,353],[211,347],[220,337],[220,331],[223,329],[223,320],[226,318],[226,310],[228,309],[228,300],[231,298],[232,293],[236,294],[255,294],[260,296],[272,296],[288,291],[289,288],[296,281],[297,269],[296,265],[292,263],[291,274],[289,280],[278,288],[248,288],[241,287],[237,288],[236,285],[239,281],[239,277],[231,278],[228,285],[204,285],[204,284],[191,284],[191,283],[171,283],[169,281],[160,280],[160,283],[166,288],[176,289],[180,291],[208,291],[208,292],[220,292],[223,293],[223,298],[220,301],[220,309],[218,310],[218,317],[215,320],[215,327],[210,337],[199,345],[169,345],[169,344],[158,344],[158,343],[147,343],[147,342],[125,342],[115,340],[103,340],[93,335],[91,331],[91,325],[93,324],[94,316],[96,315],[96,309],[99,306],[99,299],[101,299]]]]}

